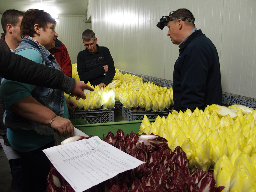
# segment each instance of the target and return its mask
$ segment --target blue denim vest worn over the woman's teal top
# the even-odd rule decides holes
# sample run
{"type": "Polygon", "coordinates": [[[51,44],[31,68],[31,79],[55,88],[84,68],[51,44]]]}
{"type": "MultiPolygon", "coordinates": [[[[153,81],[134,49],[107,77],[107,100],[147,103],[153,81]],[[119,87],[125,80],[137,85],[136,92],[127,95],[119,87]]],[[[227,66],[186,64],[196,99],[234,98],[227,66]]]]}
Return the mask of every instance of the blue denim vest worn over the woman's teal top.
{"type": "MultiPolygon", "coordinates": [[[[17,53],[25,49],[37,50],[38,53],[41,55],[43,65],[60,70],[58,67],[57,61],[52,56],[52,54],[34,39],[32,40],[27,37],[23,37],[21,40],[21,43],[13,52],[17,53]]],[[[63,114],[64,114],[64,92],[63,91],[37,86],[31,92],[31,95],[42,105],[51,109],[56,115],[63,117],[63,114]]],[[[56,136],[59,135],[58,131],[57,132],[54,131],[54,129],[51,128],[49,125],[43,125],[43,124],[35,123],[33,121],[29,121],[27,119],[20,117],[19,115],[17,115],[11,110],[6,110],[5,115],[6,115],[5,125],[8,128],[34,130],[41,135],[54,135],[55,141],[56,141],[56,136]]]]}

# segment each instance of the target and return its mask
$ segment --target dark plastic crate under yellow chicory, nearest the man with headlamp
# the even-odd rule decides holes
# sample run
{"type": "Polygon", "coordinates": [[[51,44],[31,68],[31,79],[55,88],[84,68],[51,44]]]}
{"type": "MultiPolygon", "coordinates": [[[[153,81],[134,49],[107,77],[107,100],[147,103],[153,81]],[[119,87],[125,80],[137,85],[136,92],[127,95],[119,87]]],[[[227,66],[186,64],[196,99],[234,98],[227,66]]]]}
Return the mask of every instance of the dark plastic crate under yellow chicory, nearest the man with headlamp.
{"type": "Polygon", "coordinates": [[[144,115],[148,117],[148,119],[156,119],[159,115],[160,117],[167,117],[169,113],[172,113],[172,110],[166,110],[166,111],[131,111],[129,109],[126,109],[123,107],[122,115],[124,116],[124,119],[127,121],[135,121],[135,120],[142,120],[144,118],[144,115]]]}

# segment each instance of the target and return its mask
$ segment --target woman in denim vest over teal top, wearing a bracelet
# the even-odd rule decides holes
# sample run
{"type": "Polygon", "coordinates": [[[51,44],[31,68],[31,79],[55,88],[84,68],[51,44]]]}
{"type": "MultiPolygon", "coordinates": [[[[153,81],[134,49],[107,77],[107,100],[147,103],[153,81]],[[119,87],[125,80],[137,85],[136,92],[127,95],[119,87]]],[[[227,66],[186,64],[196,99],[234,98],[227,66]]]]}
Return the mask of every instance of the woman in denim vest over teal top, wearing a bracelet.
{"type": "MultiPolygon", "coordinates": [[[[43,10],[29,9],[21,23],[22,40],[14,53],[42,65],[61,70],[48,49],[55,46],[56,21],[43,10]]],[[[23,191],[43,192],[50,161],[43,149],[60,143],[60,136],[73,136],[68,108],[75,103],[57,89],[4,79],[0,94],[5,101],[7,138],[21,156],[23,191]]]]}

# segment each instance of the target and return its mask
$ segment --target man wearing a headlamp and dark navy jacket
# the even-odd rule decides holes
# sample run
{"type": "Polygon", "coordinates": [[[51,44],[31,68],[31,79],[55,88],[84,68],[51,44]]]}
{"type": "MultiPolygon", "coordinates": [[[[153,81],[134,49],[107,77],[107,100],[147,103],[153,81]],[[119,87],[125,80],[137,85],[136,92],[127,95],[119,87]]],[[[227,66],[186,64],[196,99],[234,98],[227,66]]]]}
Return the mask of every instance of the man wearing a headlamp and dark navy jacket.
{"type": "Polygon", "coordinates": [[[201,30],[187,9],[178,9],[160,19],[157,26],[169,28],[167,36],[179,45],[173,70],[174,110],[192,111],[206,105],[222,104],[219,56],[216,47],[201,30]]]}

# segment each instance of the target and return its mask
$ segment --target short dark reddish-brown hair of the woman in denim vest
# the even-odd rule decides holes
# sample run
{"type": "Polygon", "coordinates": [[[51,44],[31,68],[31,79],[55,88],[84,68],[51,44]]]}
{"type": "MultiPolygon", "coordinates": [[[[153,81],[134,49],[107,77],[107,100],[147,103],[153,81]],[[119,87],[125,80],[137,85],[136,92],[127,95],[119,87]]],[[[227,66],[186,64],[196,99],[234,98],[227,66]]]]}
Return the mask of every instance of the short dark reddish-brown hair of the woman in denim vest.
{"type": "Polygon", "coordinates": [[[53,23],[56,26],[57,22],[44,10],[29,9],[24,13],[24,17],[21,21],[21,36],[28,35],[34,37],[34,34],[36,33],[34,25],[38,24],[39,27],[42,27],[45,30],[47,23],[53,23]]]}

